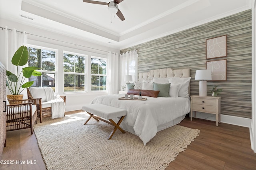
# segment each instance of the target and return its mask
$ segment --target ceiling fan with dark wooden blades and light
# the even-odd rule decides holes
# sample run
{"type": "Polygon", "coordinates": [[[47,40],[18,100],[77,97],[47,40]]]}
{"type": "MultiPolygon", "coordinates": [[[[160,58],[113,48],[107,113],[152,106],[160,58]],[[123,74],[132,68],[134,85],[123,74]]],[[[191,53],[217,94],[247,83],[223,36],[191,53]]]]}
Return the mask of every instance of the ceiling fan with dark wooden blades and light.
{"type": "Polygon", "coordinates": [[[100,4],[100,5],[107,5],[108,6],[108,10],[110,10],[111,13],[115,13],[118,18],[120,18],[120,20],[124,21],[124,16],[122,14],[122,12],[118,9],[118,5],[120,2],[122,2],[123,0],[113,0],[109,3],[107,2],[100,2],[100,1],[94,1],[94,0],[83,0],[84,2],[87,3],[92,3],[92,4],[100,4]]]}

